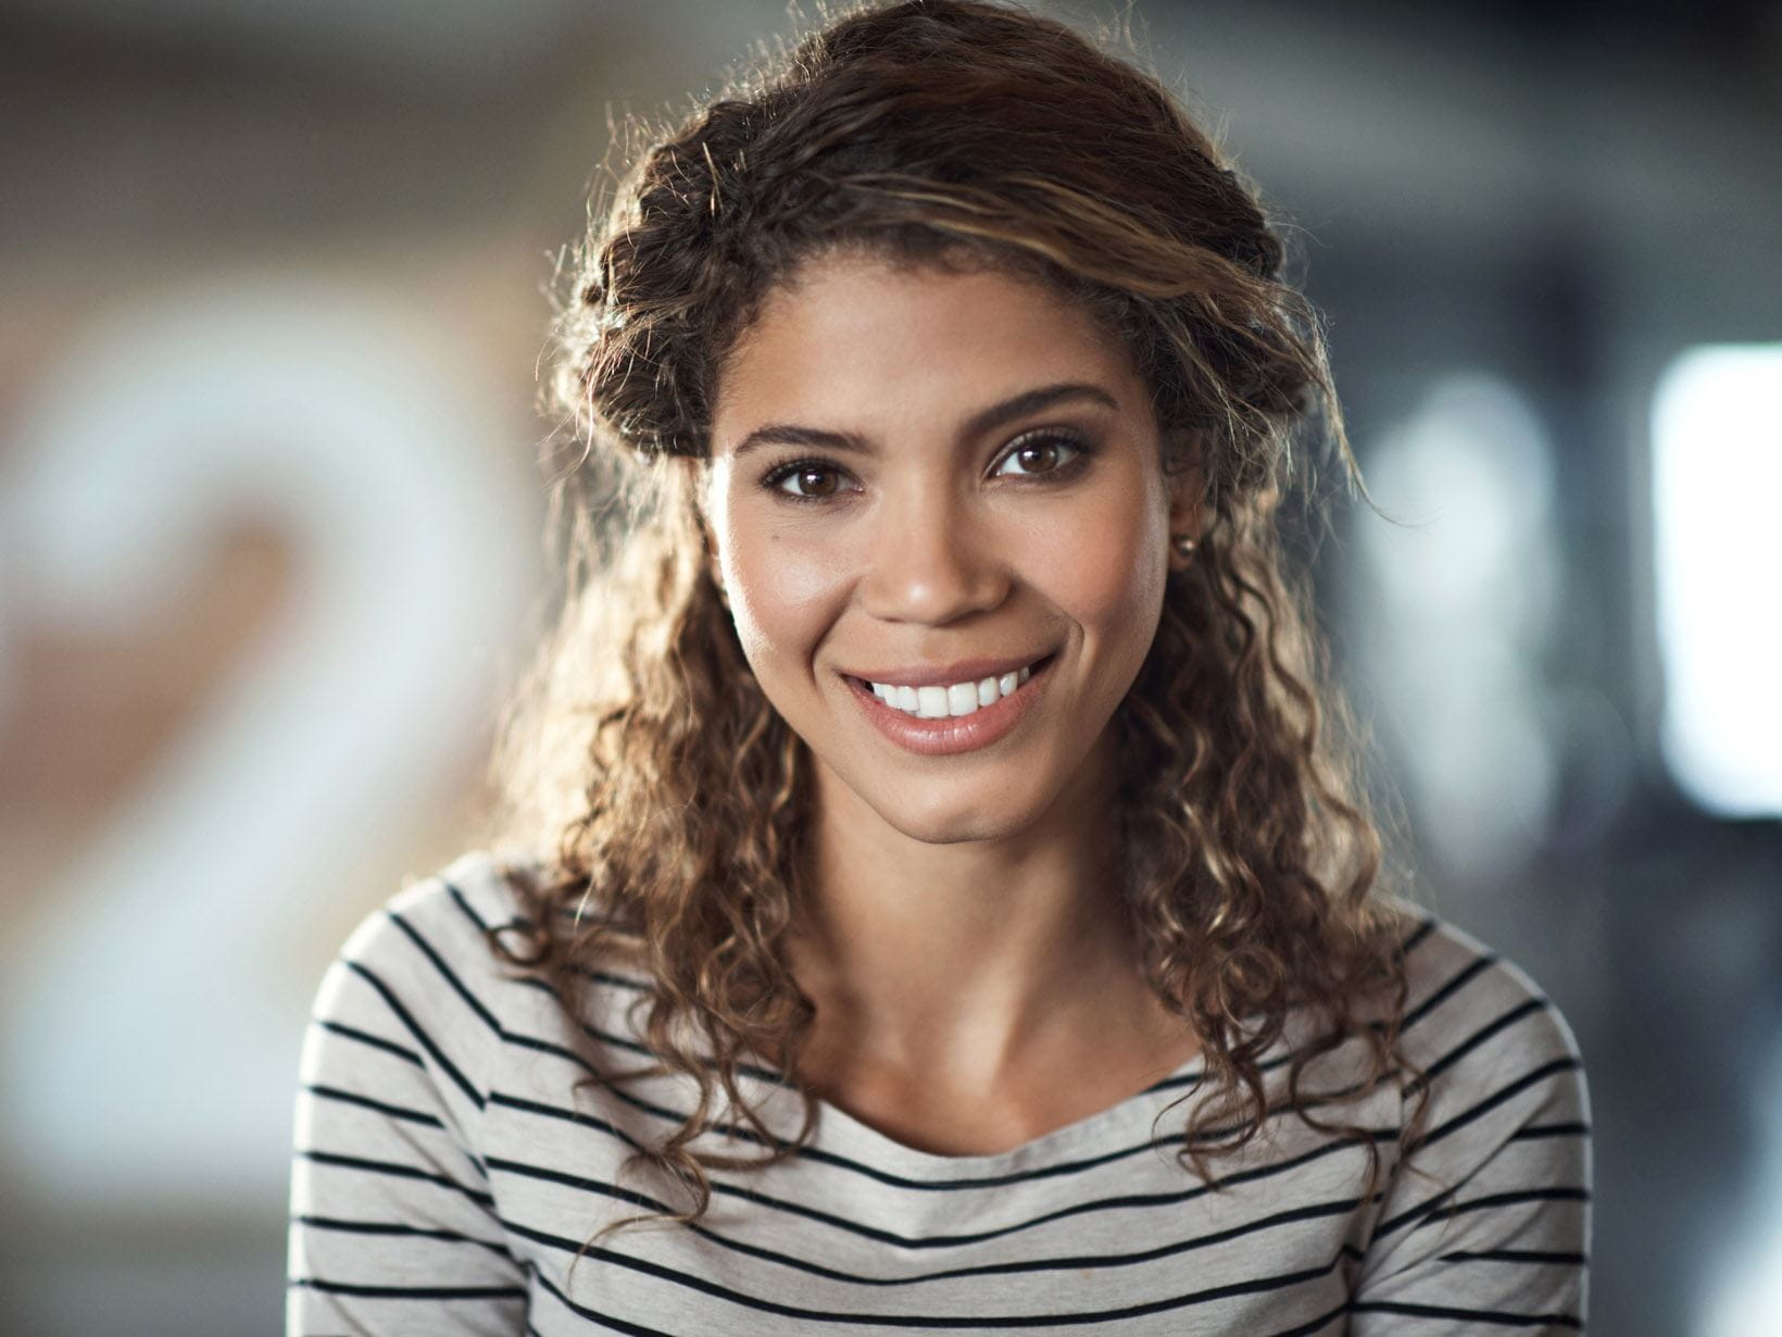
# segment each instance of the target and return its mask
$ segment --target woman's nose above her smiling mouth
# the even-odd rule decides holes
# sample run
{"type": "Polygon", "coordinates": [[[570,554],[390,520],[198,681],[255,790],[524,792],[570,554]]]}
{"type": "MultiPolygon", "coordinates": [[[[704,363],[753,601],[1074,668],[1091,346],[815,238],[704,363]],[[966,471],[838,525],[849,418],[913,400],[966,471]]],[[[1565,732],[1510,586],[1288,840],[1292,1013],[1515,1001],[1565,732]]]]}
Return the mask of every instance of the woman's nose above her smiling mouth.
{"type": "Polygon", "coordinates": [[[887,622],[941,626],[1009,597],[1005,545],[987,517],[944,487],[887,497],[873,517],[861,604],[887,622]]]}

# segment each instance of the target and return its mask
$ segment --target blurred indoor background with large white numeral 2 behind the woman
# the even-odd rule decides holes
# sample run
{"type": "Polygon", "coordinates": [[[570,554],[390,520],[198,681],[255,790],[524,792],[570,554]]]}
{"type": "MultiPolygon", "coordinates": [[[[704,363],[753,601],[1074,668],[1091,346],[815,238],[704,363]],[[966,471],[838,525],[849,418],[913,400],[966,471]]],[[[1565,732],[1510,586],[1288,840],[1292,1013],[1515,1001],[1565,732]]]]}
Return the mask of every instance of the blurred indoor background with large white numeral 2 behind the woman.
{"type": "MultiPolygon", "coordinates": [[[[1087,27],[1116,5],[1062,11],[1087,27]]],[[[1292,219],[1420,897],[1570,1016],[1593,1330],[1782,1332],[1782,4],[1137,0],[1292,219]]],[[[627,114],[779,0],[0,0],[0,1328],[276,1333],[296,1052],[463,845],[627,114]]]]}

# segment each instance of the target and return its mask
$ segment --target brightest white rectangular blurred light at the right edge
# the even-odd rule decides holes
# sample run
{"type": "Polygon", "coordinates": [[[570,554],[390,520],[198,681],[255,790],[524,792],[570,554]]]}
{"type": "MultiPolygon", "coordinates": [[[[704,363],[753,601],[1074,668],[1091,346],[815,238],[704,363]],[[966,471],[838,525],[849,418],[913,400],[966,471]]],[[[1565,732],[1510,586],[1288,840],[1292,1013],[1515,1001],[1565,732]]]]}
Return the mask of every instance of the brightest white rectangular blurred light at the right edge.
{"type": "Polygon", "coordinates": [[[1679,357],[1652,405],[1664,761],[1704,808],[1782,815],[1782,344],[1679,357]]]}

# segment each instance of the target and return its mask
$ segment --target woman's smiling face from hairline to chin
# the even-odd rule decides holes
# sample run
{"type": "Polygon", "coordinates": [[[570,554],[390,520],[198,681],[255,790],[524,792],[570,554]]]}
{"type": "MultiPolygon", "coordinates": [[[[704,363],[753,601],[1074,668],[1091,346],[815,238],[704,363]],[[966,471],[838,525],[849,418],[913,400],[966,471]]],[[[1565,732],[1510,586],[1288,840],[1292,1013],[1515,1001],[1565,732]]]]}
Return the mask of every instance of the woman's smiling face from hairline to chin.
{"type": "Polygon", "coordinates": [[[1126,351],[1034,283],[825,257],[772,292],[702,504],[825,816],[944,843],[1099,813],[1185,492],[1126,351]]]}

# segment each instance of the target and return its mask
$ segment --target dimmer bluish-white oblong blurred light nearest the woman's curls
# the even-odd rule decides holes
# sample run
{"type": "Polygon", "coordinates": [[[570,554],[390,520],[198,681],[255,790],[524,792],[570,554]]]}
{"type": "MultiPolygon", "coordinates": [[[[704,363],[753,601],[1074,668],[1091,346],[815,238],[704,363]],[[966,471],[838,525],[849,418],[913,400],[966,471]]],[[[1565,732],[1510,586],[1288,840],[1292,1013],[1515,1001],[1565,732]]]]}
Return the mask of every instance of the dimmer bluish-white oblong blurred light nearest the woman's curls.
{"type": "Polygon", "coordinates": [[[1559,581],[1549,456],[1527,399],[1468,373],[1431,385],[1365,460],[1397,524],[1360,533],[1360,656],[1422,831],[1481,879],[1540,845],[1557,783],[1540,677],[1559,581]]]}

